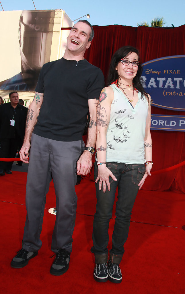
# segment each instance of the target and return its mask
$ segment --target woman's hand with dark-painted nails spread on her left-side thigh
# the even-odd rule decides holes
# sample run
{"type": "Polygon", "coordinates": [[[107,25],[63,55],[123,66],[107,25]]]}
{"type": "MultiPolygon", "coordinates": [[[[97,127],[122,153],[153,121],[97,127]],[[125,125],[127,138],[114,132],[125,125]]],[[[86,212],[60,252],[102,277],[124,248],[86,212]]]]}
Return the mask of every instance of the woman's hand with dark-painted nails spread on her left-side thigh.
{"type": "Polygon", "coordinates": [[[117,178],[115,178],[112,171],[110,171],[110,169],[108,169],[105,164],[98,166],[98,175],[97,175],[95,183],[97,183],[97,181],[100,180],[99,189],[100,190],[102,189],[102,184],[103,184],[104,193],[106,191],[106,184],[107,184],[108,190],[110,191],[109,177],[111,177],[114,181],[117,181],[117,178]]]}

